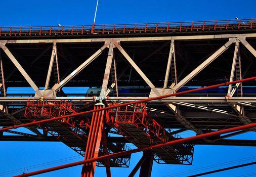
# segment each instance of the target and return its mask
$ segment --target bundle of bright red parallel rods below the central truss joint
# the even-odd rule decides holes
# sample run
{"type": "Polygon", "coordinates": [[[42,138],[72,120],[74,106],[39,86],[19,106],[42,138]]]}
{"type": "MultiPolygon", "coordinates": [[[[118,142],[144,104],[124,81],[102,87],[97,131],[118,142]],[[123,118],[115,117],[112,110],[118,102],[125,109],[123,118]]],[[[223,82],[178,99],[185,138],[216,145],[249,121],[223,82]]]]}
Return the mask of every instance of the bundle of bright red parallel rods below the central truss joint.
{"type": "MultiPolygon", "coordinates": [[[[104,105],[95,105],[94,110],[104,108],[104,105]]],[[[102,128],[103,128],[104,111],[98,111],[93,113],[91,128],[86,146],[86,152],[84,152],[84,159],[91,159],[98,157],[102,128]]],[[[81,177],[94,176],[96,162],[87,163],[82,166],[81,177]]]]}

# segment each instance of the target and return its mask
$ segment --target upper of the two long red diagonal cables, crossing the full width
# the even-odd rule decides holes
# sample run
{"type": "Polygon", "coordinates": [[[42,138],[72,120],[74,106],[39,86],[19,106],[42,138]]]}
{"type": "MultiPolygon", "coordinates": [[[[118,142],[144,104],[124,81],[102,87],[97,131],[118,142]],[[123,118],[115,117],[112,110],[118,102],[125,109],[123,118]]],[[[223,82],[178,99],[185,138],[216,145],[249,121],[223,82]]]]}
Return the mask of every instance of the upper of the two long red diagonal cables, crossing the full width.
{"type": "Polygon", "coordinates": [[[54,117],[54,118],[50,118],[50,119],[39,120],[39,121],[24,123],[24,124],[20,124],[20,125],[9,126],[9,127],[5,127],[5,128],[0,128],[0,131],[13,129],[13,128],[24,127],[24,126],[30,126],[30,125],[34,125],[34,124],[37,124],[37,123],[44,123],[44,122],[59,120],[59,119],[67,118],[67,117],[74,117],[74,116],[93,113],[93,112],[97,112],[97,111],[103,111],[103,110],[118,108],[118,107],[122,107],[122,106],[128,106],[128,105],[137,104],[137,103],[144,103],[144,102],[148,102],[148,101],[152,101],[152,100],[159,100],[159,99],[162,99],[162,98],[173,97],[173,96],[188,94],[188,93],[197,92],[197,91],[203,91],[203,90],[212,89],[212,88],[219,87],[219,86],[227,86],[227,85],[230,85],[230,84],[245,82],[245,81],[255,80],[255,79],[256,79],[256,77],[249,77],[249,78],[246,78],[246,79],[235,80],[235,81],[232,81],[232,82],[225,82],[225,83],[220,83],[220,84],[216,84],[216,85],[210,85],[210,86],[206,86],[206,87],[202,87],[202,88],[198,88],[198,89],[193,89],[193,90],[189,90],[189,91],[184,91],[184,92],[179,92],[179,93],[174,93],[174,94],[168,94],[168,95],[163,95],[163,96],[159,96],[159,97],[153,97],[153,98],[149,98],[149,99],[124,103],[124,104],[121,104],[121,105],[109,106],[109,107],[100,108],[100,109],[97,109],[97,110],[84,111],[84,112],[64,115],[64,116],[60,116],[60,117],[54,117]]]}

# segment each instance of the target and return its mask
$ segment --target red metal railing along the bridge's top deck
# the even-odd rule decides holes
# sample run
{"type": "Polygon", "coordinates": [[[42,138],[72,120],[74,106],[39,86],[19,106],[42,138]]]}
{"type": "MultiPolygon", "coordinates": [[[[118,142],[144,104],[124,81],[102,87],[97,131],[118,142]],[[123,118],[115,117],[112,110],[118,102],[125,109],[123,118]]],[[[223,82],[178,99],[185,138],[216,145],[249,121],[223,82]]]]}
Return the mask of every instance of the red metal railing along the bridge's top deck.
{"type": "Polygon", "coordinates": [[[0,36],[122,34],[256,29],[256,19],[68,26],[0,27],[0,36]]]}

